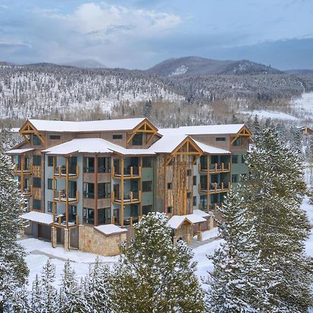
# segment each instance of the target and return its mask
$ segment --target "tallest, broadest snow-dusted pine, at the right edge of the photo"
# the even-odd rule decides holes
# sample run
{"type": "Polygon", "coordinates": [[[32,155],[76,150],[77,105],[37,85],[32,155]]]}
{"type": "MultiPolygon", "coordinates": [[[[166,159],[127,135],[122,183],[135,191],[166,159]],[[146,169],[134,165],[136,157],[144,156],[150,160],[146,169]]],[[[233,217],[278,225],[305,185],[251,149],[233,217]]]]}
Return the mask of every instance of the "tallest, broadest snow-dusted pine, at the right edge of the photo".
{"type": "Polygon", "coordinates": [[[305,255],[310,221],[300,209],[306,185],[298,154],[264,129],[246,157],[243,199],[255,218],[260,263],[271,287],[268,312],[304,313],[312,305],[312,259],[305,255]]]}

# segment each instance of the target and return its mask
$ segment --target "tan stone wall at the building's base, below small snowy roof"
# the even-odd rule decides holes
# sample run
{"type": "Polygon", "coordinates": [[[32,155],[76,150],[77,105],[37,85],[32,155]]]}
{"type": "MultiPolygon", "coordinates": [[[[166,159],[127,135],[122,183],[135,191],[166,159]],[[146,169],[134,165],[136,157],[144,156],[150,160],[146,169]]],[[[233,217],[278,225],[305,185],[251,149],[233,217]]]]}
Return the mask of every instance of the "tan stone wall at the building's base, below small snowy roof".
{"type": "Polygon", "coordinates": [[[119,255],[119,246],[124,241],[126,232],[106,236],[91,226],[79,225],[79,250],[104,256],[119,255]]]}

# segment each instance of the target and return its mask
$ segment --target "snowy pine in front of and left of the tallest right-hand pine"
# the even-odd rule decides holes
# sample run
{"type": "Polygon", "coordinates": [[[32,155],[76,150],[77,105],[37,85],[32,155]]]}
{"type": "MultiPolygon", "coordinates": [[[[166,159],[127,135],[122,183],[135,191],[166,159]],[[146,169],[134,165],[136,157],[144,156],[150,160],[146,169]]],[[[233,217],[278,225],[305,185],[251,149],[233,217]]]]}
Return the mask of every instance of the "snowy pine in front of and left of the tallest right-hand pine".
{"type": "MultiPolygon", "coordinates": [[[[241,202],[241,186],[228,193],[219,210],[220,234],[225,243],[209,256],[214,271],[207,284],[207,312],[252,313],[266,307],[264,268],[259,264],[253,217],[241,202]]],[[[266,312],[262,310],[261,312],[266,312]]]]}

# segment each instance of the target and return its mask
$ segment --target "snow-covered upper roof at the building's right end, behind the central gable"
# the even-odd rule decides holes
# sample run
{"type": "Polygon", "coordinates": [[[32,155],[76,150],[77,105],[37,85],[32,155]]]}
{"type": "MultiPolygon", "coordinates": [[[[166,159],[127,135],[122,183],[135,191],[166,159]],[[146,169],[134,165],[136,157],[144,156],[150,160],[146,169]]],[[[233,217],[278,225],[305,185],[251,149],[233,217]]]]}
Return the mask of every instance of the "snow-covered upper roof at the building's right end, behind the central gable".
{"type": "MultiPolygon", "coordinates": [[[[179,129],[186,135],[237,134],[244,124],[182,126],[179,129]]],[[[162,133],[161,133],[162,134],[162,133]]]]}

